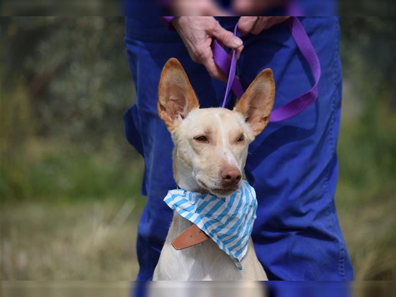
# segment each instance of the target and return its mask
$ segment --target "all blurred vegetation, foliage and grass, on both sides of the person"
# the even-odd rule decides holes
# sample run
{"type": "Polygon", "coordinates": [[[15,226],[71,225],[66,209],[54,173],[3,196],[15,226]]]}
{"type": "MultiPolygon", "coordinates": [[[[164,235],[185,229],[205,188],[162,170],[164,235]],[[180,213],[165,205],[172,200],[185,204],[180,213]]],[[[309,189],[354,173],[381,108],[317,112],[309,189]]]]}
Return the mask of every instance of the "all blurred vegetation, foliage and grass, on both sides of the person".
{"type": "MultiPolygon", "coordinates": [[[[142,159],[123,18],[0,21],[0,279],[136,276],[142,159]]],[[[396,279],[396,20],[341,19],[336,203],[356,279],[396,279]]]]}

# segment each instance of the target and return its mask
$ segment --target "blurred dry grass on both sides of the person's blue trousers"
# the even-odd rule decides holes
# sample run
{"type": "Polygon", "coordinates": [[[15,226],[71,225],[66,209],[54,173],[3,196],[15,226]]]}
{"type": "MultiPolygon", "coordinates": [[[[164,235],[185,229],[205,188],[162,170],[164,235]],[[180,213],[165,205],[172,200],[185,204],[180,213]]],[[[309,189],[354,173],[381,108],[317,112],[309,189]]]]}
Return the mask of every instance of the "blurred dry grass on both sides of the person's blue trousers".
{"type": "MultiPolygon", "coordinates": [[[[396,278],[396,200],[342,203],[340,223],[356,280],[396,278]]],[[[133,280],[141,209],[132,200],[5,203],[2,280],[133,280]]]]}

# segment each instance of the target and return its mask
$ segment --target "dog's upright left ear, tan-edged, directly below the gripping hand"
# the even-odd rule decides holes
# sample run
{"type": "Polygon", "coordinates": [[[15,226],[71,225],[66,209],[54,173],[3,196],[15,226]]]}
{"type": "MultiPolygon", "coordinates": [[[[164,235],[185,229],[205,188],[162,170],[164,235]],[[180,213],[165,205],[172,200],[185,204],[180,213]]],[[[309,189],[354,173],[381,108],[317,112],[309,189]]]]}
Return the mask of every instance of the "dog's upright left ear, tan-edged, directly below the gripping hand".
{"type": "Polygon", "coordinates": [[[198,99],[183,66],[170,58],[162,68],[158,87],[158,115],[170,132],[187,114],[198,108],[198,99]]]}

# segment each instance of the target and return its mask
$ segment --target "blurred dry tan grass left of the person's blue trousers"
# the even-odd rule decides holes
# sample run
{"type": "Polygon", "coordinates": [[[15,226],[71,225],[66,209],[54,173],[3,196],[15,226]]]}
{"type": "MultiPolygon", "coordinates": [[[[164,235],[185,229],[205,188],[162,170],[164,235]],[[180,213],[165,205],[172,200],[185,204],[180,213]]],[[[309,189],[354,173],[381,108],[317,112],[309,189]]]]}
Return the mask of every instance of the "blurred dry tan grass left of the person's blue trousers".
{"type": "Polygon", "coordinates": [[[134,202],[9,203],[1,207],[2,280],[133,280],[134,202]]]}

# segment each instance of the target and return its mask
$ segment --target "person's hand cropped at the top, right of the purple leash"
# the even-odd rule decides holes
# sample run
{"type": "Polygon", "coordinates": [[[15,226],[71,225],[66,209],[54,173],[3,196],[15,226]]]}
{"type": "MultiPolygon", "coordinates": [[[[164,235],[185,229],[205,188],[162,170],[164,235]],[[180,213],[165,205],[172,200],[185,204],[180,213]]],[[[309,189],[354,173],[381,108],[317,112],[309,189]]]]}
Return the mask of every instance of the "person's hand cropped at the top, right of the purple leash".
{"type": "Polygon", "coordinates": [[[241,16],[238,31],[242,35],[247,33],[259,34],[276,24],[286,21],[289,16],[241,16]]]}

